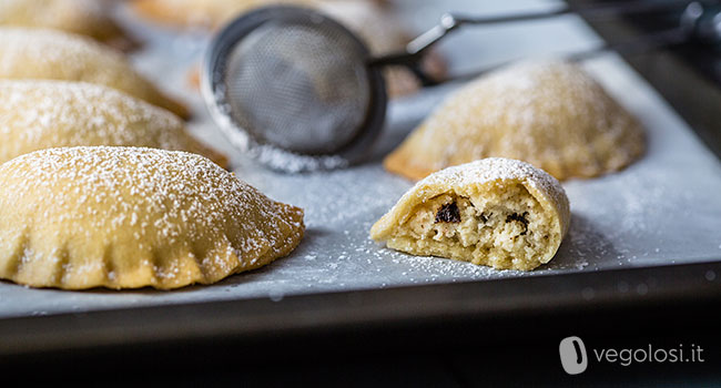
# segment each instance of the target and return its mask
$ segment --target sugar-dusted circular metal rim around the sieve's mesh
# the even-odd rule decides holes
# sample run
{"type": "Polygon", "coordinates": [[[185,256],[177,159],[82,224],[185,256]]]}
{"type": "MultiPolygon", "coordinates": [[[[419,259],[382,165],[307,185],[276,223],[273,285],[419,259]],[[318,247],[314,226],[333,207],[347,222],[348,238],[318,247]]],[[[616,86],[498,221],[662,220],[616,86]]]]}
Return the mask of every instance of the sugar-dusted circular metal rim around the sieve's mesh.
{"type": "Polygon", "coordinates": [[[333,28],[347,33],[353,44],[370,59],[370,51],[345,25],[333,18],[309,8],[294,6],[270,6],[255,9],[227,23],[211,41],[202,63],[201,93],[210,111],[211,118],[229,139],[231,144],[241,151],[247,152],[263,164],[280,171],[303,172],[313,170],[329,170],[356,164],[369,156],[369,150],[377,140],[385,123],[387,94],[385,80],[377,67],[365,67],[369,86],[369,103],[363,124],[355,137],[344,147],[333,154],[301,154],[283,150],[274,144],[265,143],[255,137],[250,131],[243,129],[231,114],[225,112],[224,91],[225,65],[235,44],[244,37],[270,21],[305,22],[308,20],[317,23],[329,23],[333,28]],[[275,163],[276,159],[263,157],[263,154],[278,154],[293,160],[291,165],[275,163]]]}

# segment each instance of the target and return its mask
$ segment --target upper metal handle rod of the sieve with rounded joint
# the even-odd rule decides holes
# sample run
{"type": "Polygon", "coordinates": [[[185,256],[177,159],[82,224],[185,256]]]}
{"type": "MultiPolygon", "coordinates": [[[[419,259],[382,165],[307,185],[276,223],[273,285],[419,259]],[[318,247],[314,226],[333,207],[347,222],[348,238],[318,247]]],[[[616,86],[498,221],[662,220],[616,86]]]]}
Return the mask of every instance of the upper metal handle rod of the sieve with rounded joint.
{"type": "MultiPolygon", "coordinates": [[[[598,18],[599,16],[618,16],[643,13],[671,9],[691,3],[689,0],[669,0],[669,1],[618,1],[605,4],[593,4],[583,7],[571,7],[568,4],[560,6],[551,10],[531,11],[525,13],[501,14],[492,17],[468,17],[461,14],[446,13],[440,18],[440,23],[430,30],[424,32],[406,45],[406,50],[399,53],[392,53],[368,61],[369,65],[390,65],[399,64],[417,70],[417,63],[431,45],[440,41],[448,33],[457,30],[465,24],[483,25],[498,24],[518,21],[529,21],[558,17],[562,14],[576,13],[588,18],[598,18]],[[414,69],[415,68],[415,69],[414,69]]],[[[418,71],[416,71],[418,73],[418,71]]]]}

